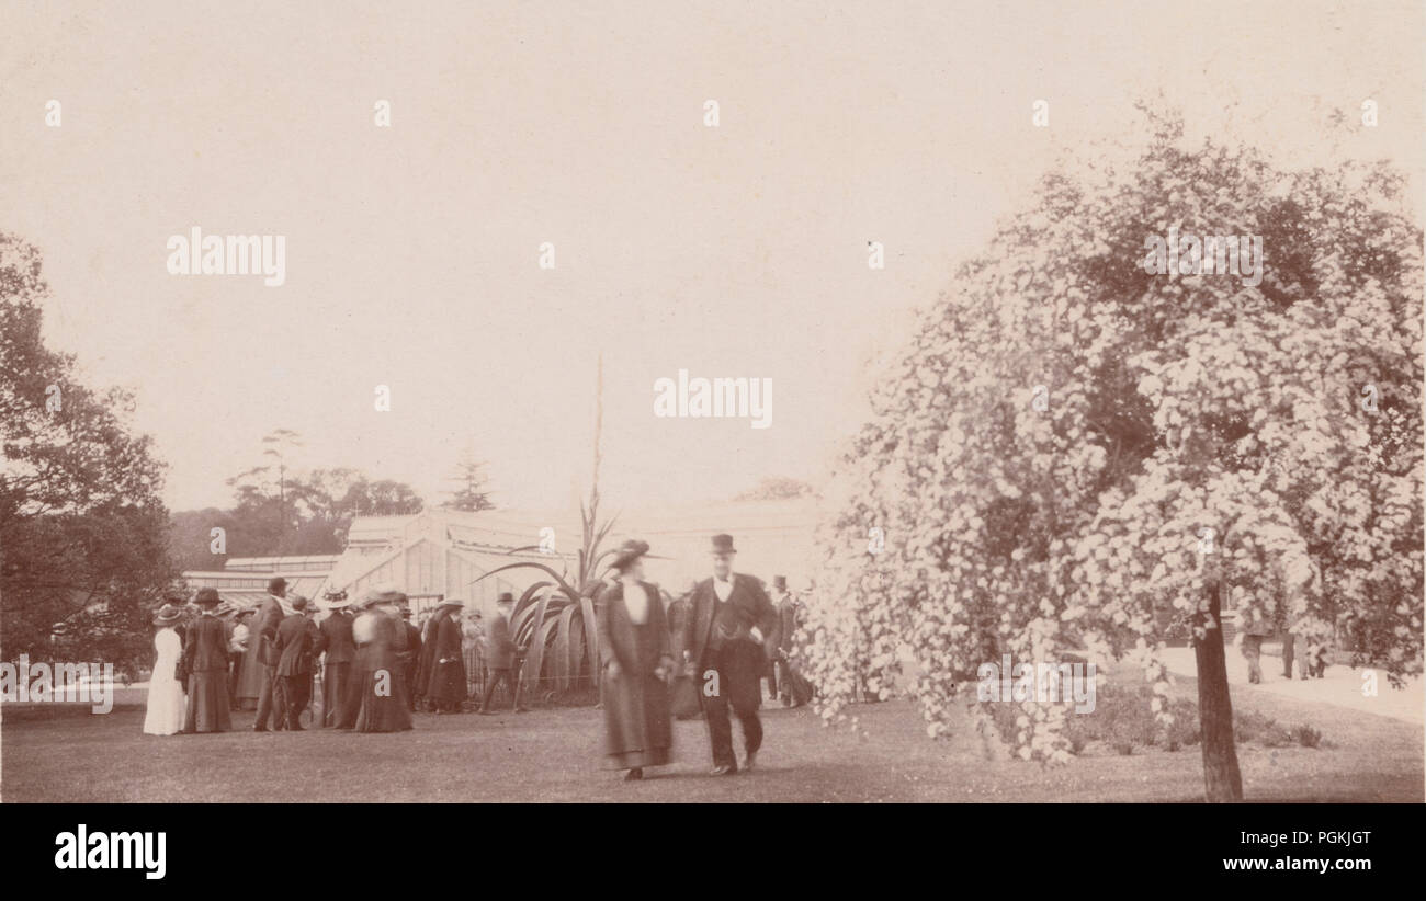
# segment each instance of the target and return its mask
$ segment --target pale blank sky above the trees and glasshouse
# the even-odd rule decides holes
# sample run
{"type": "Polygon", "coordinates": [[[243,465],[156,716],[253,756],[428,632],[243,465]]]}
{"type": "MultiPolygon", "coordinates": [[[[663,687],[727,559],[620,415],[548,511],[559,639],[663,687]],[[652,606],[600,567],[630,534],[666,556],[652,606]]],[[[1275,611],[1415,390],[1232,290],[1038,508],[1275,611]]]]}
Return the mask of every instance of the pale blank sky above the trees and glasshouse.
{"type": "Polygon", "coordinates": [[[910,311],[1061,151],[1141,140],[1138,97],[1420,184],[1419,3],[135,6],[0,4],[0,230],[174,509],[275,428],[428,502],[472,448],[501,506],[569,503],[599,349],[612,506],[817,482],[910,311]],[[170,275],[193,225],[285,235],[285,285],[170,275]],[[680,368],[771,378],[771,428],[655,418],[680,368]]]}

